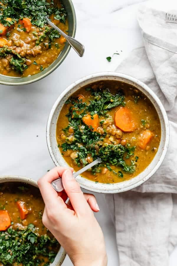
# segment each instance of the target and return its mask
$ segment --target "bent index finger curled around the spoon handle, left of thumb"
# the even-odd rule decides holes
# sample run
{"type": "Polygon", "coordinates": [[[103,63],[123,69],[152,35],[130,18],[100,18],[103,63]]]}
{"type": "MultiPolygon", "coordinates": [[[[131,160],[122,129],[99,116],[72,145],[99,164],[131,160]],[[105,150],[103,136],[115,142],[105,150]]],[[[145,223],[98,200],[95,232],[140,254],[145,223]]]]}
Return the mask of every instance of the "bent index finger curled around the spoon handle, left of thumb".
{"type": "MultiPolygon", "coordinates": [[[[52,207],[56,200],[60,198],[58,197],[58,193],[55,191],[55,189],[53,189],[51,182],[57,178],[60,178],[66,169],[68,168],[57,166],[37,181],[42,198],[47,208],[52,207]]],[[[73,171],[73,168],[70,169],[73,171]]],[[[61,202],[63,202],[62,199],[61,202]]],[[[63,202],[63,206],[64,205],[65,204],[63,202]]]]}

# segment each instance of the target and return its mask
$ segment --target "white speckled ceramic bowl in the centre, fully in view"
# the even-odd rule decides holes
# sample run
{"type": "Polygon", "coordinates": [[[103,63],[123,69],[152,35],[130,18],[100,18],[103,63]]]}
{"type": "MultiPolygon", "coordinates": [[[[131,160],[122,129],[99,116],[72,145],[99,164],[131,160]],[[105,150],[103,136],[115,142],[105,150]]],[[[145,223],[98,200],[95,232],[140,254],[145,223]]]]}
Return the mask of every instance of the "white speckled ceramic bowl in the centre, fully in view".
{"type": "Polygon", "coordinates": [[[92,82],[99,80],[114,80],[114,81],[118,80],[137,87],[142,93],[144,93],[151,100],[160,118],[160,124],[161,124],[160,145],[154,159],[142,173],[140,173],[139,175],[130,180],[114,184],[95,183],[94,181],[90,181],[86,178],[83,178],[82,176],[78,176],[76,178],[76,180],[80,183],[82,188],[93,192],[99,192],[99,193],[124,192],[141,185],[142,183],[147,181],[151,176],[153,176],[153,174],[158,170],[161,163],[163,162],[169,144],[169,136],[170,136],[169,123],[165,109],[162,103],[160,102],[159,98],[155,95],[155,93],[143,82],[135,79],[134,77],[130,77],[126,74],[121,74],[117,72],[96,73],[89,75],[87,77],[83,77],[80,80],[74,82],[68,88],[66,88],[63,91],[63,93],[58,97],[58,99],[56,100],[56,102],[52,107],[52,110],[50,111],[50,115],[47,122],[47,131],[46,131],[47,145],[55,165],[68,166],[63,156],[61,155],[60,150],[58,149],[58,144],[56,140],[56,123],[58,120],[58,116],[65,101],[76,90],[80,89],[85,85],[88,85],[92,82]]]}

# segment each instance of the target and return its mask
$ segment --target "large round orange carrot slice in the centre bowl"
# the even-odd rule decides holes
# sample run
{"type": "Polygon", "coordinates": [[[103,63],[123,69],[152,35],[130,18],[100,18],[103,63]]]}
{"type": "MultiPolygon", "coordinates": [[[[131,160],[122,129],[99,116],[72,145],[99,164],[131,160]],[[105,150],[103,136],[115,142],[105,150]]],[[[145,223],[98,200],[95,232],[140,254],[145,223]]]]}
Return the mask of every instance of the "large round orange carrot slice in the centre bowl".
{"type": "Polygon", "coordinates": [[[131,132],[136,128],[136,121],[127,107],[120,107],[114,116],[115,125],[124,132],[131,132]]]}

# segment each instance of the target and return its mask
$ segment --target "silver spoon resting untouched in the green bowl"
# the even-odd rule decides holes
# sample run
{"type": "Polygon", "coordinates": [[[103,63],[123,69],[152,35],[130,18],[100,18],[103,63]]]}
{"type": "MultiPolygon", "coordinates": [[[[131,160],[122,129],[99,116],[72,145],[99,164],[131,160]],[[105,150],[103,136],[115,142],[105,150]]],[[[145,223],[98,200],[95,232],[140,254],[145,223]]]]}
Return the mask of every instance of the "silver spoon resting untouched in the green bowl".
{"type": "Polygon", "coordinates": [[[45,17],[47,20],[47,23],[53,27],[55,30],[57,30],[65,39],[68,41],[68,43],[73,47],[73,49],[78,53],[79,56],[83,56],[84,54],[84,46],[80,42],[78,42],[76,39],[74,39],[71,36],[66,35],[62,30],[60,30],[48,17],[45,17]]]}

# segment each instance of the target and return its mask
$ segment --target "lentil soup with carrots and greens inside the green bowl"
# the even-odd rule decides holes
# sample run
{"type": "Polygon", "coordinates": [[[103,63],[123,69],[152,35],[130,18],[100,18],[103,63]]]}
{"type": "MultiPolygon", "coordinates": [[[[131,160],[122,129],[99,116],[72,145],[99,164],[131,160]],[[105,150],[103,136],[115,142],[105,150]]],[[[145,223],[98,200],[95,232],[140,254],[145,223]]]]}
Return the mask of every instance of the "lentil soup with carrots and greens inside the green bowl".
{"type": "Polygon", "coordinates": [[[68,21],[59,0],[2,0],[0,4],[0,74],[29,77],[57,59],[66,39],[47,25],[45,16],[65,33],[68,21]]]}

